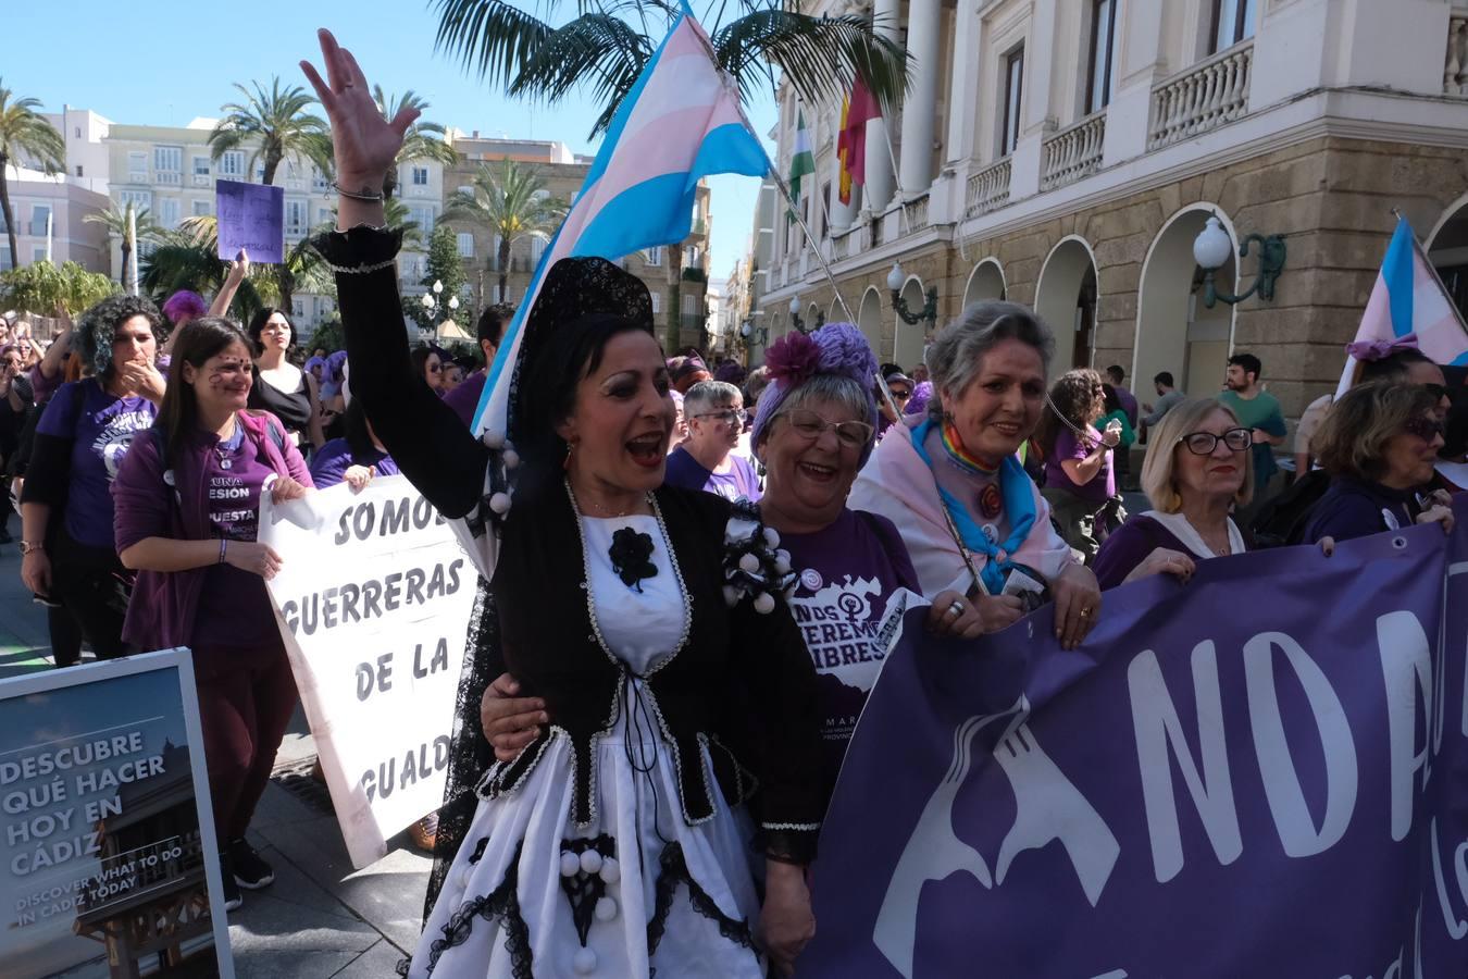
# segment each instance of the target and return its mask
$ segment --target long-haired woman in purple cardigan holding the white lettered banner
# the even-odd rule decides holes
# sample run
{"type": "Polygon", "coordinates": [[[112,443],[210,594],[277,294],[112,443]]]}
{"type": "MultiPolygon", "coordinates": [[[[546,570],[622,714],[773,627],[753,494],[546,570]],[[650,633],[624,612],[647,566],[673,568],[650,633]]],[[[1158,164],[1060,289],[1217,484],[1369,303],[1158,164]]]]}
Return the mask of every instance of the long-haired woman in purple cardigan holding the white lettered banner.
{"type": "Polygon", "coordinates": [[[113,486],[117,553],[138,572],[123,638],[194,655],[226,909],[239,906],[241,887],[275,879],[245,829],[295,707],[266,592],[280,556],[257,542],[260,499],[311,489],[280,420],[247,410],[251,352],[229,320],[179,330],[159,421],[138,434],[113,486]]]}

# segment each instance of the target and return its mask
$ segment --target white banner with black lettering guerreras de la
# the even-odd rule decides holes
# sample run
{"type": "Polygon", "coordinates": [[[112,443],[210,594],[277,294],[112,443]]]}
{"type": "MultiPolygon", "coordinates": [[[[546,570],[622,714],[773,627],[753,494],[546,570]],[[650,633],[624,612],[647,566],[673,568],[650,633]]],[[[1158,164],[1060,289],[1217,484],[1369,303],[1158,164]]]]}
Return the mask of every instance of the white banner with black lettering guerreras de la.
{"type": "Polygon", "coordinates": [[[352,866],[443,801],[474,567],[402,476],[260,506],[270,581],[352,866]]]}

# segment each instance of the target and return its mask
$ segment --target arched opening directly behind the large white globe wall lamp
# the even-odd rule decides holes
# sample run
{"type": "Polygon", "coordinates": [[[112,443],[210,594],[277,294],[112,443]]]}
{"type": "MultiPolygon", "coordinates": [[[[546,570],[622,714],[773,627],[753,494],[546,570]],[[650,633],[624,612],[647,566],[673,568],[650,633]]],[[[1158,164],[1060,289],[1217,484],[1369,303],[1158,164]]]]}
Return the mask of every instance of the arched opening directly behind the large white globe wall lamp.
{"type": "MultiPolygon", "coordinates": [[[[1202,304],[1202,270],[1192,255],[1193,239],[1214,214],[1230,241],[1238,242],[1233,222],[1221,210],[1193,204],[1163,225],[1142,263],[1132,361],[1132,387],[1144,392],[1142,401],[1149,401],[1152,377],[1161,371],[1191,395],[1207,396],[1223,386],[1233,345],[1233,307],[1218,302],[1210,310],[1202,304]]],[[[1238,294],[1238,261],[1232,255],[1214,272],[1214,283],[1220,292],[1238,294]]]]}

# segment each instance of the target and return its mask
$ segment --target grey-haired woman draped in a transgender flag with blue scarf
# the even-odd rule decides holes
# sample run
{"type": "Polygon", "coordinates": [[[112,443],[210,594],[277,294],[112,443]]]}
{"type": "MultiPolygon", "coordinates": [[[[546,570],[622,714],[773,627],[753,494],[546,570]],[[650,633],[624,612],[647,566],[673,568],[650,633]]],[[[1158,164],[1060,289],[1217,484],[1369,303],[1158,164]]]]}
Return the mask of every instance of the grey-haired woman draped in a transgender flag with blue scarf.
{"type": "Polygon", "coordinates": [[[923,594],[978,603],[998,631],[1045,600],[1075,649],[1095,625],[1101,590],[1050,523],[1016,454],[1045,410],[1050,329],[1014,302],[979,302],[928,348],[926,417],[876,446],[851,506],[890,518],[907,542],[923,594]]]}

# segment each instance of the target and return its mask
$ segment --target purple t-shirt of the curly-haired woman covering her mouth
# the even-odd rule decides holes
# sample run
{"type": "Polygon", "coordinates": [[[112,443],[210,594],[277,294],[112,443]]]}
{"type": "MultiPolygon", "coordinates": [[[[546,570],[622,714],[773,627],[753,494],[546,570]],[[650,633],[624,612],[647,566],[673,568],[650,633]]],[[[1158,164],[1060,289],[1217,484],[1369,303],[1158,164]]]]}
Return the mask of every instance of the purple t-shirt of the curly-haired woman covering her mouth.
{"type": "Polygon", "coordinates": [[[109,395],[95,379],[62,385],[35,426],[38,434],[72,440],[66,533],[91,547],[112,547],[112,480],[132,439],[153,427],[159,408],[147,398],[109,395]],[[72,390],[87,392],[79,415],[72,390]]]}

